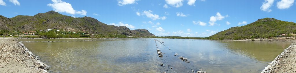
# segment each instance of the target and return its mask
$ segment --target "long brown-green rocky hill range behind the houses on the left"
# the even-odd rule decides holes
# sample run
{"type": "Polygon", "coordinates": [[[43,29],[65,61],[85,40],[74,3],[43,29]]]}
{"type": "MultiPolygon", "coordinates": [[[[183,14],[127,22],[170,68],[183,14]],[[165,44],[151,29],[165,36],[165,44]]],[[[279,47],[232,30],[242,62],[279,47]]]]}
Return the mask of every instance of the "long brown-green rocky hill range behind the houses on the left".
{"type": "Polygon", "coordinates": [[[0,29],[10,31],[37,31],[59,29],[70,32],[87,31],[90,34],[100,35],[129,35],[134,37],[155,36],[146,29],[130,30],[126,26],[110,26],[95,18],[73,18],[55,11],[38,13],[34,16],[15,16],[6,18],[0,15],[0,29]]]}

